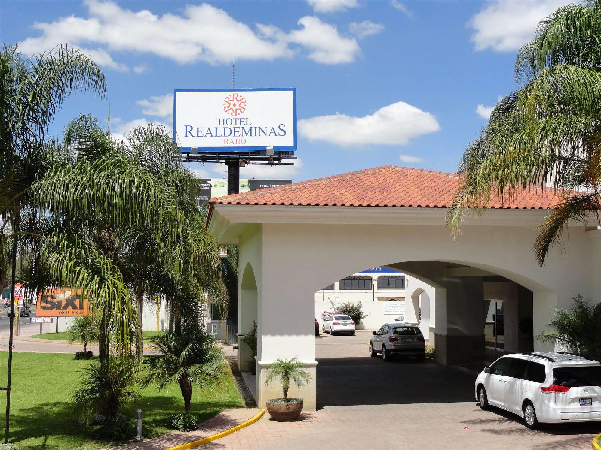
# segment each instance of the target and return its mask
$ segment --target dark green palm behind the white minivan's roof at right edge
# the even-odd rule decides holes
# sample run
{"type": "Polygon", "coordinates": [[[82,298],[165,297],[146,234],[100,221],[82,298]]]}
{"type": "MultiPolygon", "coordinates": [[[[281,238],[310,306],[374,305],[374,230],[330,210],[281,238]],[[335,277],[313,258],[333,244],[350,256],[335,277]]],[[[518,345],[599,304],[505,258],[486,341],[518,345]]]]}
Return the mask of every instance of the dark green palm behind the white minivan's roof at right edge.
{"type": "Polygon", "coordinates": [[[569,311],[554,308],[554,317],[547,323],[552,329],[539,335],[538,340],[567,344],[571,351],[601,361],[601,303],[591,307],[581,295],[573,301],[569,311]]]}

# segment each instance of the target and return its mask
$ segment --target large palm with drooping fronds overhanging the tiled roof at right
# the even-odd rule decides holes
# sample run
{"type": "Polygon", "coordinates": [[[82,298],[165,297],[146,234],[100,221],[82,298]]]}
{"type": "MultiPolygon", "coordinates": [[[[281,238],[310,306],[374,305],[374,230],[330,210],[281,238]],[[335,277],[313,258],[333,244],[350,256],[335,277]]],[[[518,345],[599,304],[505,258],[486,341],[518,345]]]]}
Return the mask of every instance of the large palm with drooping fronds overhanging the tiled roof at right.
{"type": "Polygon", "coordinates": [[[524,190],[559,189],[555,210],[534,242],[543,265],[570,221],[601,224],[601,5],[559,8],[520,49],[517,91],[499,101],[479,139],[465,150],[462,184],[447,212],[457,233],[469,208],[493,195],[507,201],[524,190]]]}

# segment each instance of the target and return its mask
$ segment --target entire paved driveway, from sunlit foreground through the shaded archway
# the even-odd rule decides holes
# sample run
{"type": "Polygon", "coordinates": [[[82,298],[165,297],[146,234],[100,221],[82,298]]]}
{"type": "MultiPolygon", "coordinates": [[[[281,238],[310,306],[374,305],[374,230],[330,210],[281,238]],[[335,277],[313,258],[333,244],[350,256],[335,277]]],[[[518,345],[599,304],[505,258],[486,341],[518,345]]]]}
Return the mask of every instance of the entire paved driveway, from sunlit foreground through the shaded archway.
{"type": "Polygon", "coordinates": [[[205,449],[590,449],[601,422],[530,431],[517,416],[482,411],[475,376],[437,364],[368,356],[371,332],[316,337],[318,411],[256,424],[205,449]]]}

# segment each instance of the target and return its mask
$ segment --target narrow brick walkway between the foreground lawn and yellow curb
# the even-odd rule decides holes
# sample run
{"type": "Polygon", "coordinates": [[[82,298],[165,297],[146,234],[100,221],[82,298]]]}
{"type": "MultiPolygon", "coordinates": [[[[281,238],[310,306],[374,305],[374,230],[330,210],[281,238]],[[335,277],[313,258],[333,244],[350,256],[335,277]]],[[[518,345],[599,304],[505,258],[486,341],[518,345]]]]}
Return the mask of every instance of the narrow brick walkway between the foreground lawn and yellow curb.
{"type": "MultiPolygon", "coordinates": [[[[177,431],[175,433],[163,434],[162,436],[153,437],[142,442],[133,442],[114,447],[111,450],[165,450],[176,445],[203,439],[203,437],[211,436],[220,431],[228,430],[247,421],[258,412],[258,409],[248,408],[227,409],[214,418],[200,424],[198,430],[189,431],[188,433],[177,431]]],[[[252,427],[252,425],[250,426],[252,427]]]]}

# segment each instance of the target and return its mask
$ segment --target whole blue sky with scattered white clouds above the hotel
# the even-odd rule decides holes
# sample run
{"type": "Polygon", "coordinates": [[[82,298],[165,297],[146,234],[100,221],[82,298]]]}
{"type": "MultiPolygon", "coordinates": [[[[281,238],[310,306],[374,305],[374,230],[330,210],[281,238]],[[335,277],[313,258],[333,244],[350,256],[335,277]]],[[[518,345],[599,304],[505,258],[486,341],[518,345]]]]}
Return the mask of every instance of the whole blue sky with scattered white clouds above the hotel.
{"type": "MultiPolygon", "coordinates": [[[[516,88],[517,48],[559,0],[2,2],[0,40],[28,55],[61,43],[104,70],[108,98],[77,95],[111,131],[160,122],[173,89],[297,88],[299,160],[242,177],[335,175],[384,164],[455,172],[489,109],[516,88]],[[336,115],[336,118],[325,116],[336,115]],[[328,119],[328,120],[326,120],[328,119]]],[[[194,165],[220,178],[225,167],[194,165]]]]}

